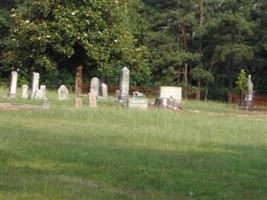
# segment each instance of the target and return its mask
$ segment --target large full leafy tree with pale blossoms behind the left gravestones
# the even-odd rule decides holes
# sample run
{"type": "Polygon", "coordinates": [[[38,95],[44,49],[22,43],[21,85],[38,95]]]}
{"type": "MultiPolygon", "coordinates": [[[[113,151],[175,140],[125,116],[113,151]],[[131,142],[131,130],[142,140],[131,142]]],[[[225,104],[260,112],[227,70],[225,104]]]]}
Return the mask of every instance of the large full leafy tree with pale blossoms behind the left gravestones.
{"type": "Polygon", "coordinates": [[[83,66],[103,76],[113,73],[116,64],[137,68],[144,51],[126,25],[128,5],[116,0],[33,0],[14,9],[6,63],[40,72],[74,73],[83,66]]]}

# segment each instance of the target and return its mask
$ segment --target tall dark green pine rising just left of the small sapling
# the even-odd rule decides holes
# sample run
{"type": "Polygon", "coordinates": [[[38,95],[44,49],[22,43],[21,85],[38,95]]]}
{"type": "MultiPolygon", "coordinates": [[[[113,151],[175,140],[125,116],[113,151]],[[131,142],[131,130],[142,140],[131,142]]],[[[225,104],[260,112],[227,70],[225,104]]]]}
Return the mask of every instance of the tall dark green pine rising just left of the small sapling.
{"type": "MultiPolygon", "coordinates": [[[[248,65],[254,57],[253,46],[248,42],[255,33],[251,18],[254,2],[251,0],[222,1],[217,14],[217,26],[213,35],[214,65],[223,65],[228,77],[228,89],[232,91],[234,78],[241,66],[248,65]]],[[[248,66],[247,66],[248,67],[248,66]]]]}

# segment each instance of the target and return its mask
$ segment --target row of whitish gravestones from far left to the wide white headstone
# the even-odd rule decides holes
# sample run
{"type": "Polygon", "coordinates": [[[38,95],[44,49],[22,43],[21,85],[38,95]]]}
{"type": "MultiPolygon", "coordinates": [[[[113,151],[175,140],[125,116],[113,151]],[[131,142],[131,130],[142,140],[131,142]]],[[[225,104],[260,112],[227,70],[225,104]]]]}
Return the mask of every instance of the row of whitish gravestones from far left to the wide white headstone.
{"type": "MultiPolygon", "coordinates": [[[[32,88],[29,90],[28,85],[22,86],[22,98],[32,99],[46,99],[46,86],[41,85],[39,87],[40,74],[34,72],[32,76],[32,88]]],[[[18,81],[18,73],[13,71],[11,73],[9,97],[16,97],[16,88],[18,81]]],[[[116,99],[128,107],[147,108],[148,99],[144,95],[140,95],[137,91],[134,92],[134,96],[129,96],[130,85],[130,70],[124,67],[121,70],[120,76],[120,90],[116,91],[116,99]]],[[[90,95],[96,98],[108,98],[108,87],[105,83],[100,84],[100,80],[97,77],[93,77],[90,82],[90,95]]],[[[89,95],[89,97],[90,97],[89,95]]],[[[67,100],[69,97],[69,90],[65,85],[61,85],[58,89],[58,99],[67,100]]],[[[92,97],[91,97],[92,99],[92,97]]],[[[167,108],[176,108],[182,99],[182,89],[180,87],[161,87],[160,95],[156,100],[156,105],[167,108]],[[176,104],[177,102],[178,104],[176,104]]]]}

